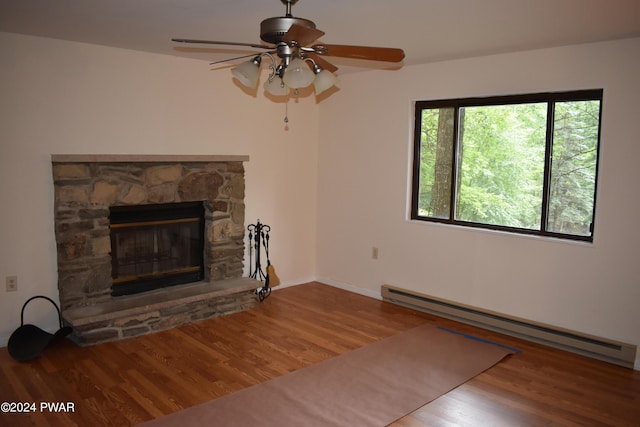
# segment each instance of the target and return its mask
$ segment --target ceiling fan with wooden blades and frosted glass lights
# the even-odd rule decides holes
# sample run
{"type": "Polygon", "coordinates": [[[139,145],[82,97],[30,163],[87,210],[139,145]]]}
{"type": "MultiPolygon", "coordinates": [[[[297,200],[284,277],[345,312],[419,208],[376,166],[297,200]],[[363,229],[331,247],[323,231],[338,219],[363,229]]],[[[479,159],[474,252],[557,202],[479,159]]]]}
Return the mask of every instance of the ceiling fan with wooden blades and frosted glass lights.
{"type": "Polygon", "coordinates": [[[173,38],[178,43],[201,43],[227,46],[245,46],[262,49],[264,52],[251,53],[224,61],[253,57],[250,61],[234,67],[231,72],[242,84],[255,89],[260,77],[260,64],[263,56],[271,59],[271,74],[264,88],[273,95],[286,95],[289,89],[297,89],[314,84],[316,95],[331,88],[336,83],[333,74],[338,67],[325,60],[324,56],[352,59],[364,59],[384,62],[401,62],[404,59],[402,49],[324,44],[317,40],[324,35],[316,24],[305,18],[294,17],[291,7],[298,0],[280,0],[286,7],[285,16],[267,18],[260,24],[260,39],[265,44],[225,42],[213,40],[195,40],[173,38]],[[314,44],[314,42],[317,42],[314,44]],[[274,55],[278,58],[276,60],[274,55]]]}

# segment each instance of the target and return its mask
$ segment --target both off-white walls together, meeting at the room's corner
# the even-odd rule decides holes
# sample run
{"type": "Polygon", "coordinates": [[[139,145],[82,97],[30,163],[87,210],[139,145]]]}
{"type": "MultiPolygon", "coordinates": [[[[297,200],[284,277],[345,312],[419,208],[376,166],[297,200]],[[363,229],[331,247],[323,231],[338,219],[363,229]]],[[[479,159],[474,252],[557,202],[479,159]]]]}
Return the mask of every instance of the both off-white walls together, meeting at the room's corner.
{"type": "MultiPolygon", "coordinates": [[[[251,157],[247,222],[273,227],[285,284],[388,283],[640,345],[640,39],[342,75],[290,103],[288,130],[284,105],[203,62],[6,33],[0,52],[0,280],[19,281],[0,344],[27,298],[57,298],[50,155],[175,153],[251,157]],[[407,220],[414,100],[599,87],[593,244],[407,220]]],[[[51,329],[48,310],[27,320],[51,329]]]]}

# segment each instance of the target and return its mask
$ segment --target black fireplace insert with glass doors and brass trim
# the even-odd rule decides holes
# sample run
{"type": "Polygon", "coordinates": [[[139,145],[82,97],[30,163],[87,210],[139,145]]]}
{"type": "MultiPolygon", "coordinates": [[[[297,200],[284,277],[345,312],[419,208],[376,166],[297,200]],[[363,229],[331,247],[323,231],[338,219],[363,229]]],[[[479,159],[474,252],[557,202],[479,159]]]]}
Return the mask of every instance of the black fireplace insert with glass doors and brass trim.
{"type": "Polygon", "coordinates": [[[202,202],[112,206],[111,295],[204,279],[202,202]]]}

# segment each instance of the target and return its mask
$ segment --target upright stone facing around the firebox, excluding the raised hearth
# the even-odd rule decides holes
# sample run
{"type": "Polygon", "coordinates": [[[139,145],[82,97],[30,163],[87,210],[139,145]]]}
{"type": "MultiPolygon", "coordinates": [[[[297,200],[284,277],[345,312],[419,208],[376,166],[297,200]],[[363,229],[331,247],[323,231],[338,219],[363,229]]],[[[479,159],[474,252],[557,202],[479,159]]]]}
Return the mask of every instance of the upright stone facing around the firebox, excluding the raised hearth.
{"type": "Polygon", "coordinates": [[[246,156],[52,156],[63,312],[111,296],[109,207],[203,201],[205,281],[242,277],[246,156]]]}

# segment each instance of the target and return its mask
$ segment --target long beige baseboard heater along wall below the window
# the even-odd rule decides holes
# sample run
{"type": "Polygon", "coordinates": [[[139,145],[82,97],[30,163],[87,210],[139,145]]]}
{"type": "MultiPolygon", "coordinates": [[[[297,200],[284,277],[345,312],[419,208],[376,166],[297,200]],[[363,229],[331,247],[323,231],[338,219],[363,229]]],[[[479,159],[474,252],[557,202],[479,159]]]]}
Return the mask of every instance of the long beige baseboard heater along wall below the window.
{"type": "Polygon", "coordinates": [[[633,369],[636,346],[382,285],[384,301],[633,369]]]}

